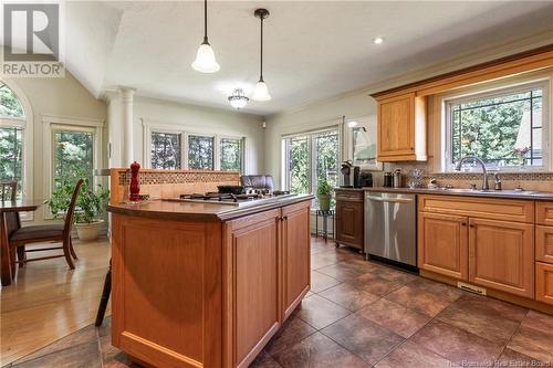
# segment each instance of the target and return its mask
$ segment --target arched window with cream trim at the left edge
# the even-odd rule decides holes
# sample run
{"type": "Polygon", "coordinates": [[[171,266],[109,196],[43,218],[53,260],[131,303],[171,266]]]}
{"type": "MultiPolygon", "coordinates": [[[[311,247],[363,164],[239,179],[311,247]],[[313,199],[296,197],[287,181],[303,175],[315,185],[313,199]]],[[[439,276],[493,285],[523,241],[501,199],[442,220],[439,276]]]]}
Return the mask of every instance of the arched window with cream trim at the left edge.
{"type": "Polygon", "coordinates": [[[18,198],[30,194],[32,127],[30,106],[4,82],[0,81],[0,181],[18,181],[18,198]],[[27,106],[25,106],[27,105],[27,106]],[[27,189],[27,190],[25,190],[27,189]]]}

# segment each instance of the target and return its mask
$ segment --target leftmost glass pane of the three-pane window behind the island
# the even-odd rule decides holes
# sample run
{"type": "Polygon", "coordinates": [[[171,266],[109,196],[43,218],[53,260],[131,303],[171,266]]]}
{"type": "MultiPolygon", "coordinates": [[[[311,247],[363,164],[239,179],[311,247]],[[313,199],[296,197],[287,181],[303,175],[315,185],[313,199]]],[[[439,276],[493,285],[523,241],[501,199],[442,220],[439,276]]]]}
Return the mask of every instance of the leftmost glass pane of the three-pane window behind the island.
{"type": "Polygon", "coordinates": [[[153,169],[181,168],[181,134],[152,132],[150,141],[153,169]]]}

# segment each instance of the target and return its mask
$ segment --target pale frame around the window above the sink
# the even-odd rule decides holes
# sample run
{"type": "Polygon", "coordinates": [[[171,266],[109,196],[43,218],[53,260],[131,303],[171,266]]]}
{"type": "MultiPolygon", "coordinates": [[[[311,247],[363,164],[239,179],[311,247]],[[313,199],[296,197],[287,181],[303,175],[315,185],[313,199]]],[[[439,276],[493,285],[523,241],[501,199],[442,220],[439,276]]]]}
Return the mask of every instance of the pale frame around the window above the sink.
{"type": "MultiPolygon", "coordinates": [[[[509,94],[529,92],[531,90],[542,90],[542,165],[541,166],[524,166],[525,172],[542,172],[552,169],[552,153],[550,151],[553,141],[551,129],[551,104],[552,104],[552,75],[542,75],[541,77],[523,78],[518,81],[504,81],[501,83],[484,84],[479,87],[467,90],[462,94],[441,96],[441,139],[442,156],[440,160],[440,172],[456,172],[455,164],[452,162],[452,122],[451,106],[477,99],[492,98],[509,94]]],[[[501,172],[520,172],[519,166],[490,166],[487,167],[491,171],[501,172]]]]}

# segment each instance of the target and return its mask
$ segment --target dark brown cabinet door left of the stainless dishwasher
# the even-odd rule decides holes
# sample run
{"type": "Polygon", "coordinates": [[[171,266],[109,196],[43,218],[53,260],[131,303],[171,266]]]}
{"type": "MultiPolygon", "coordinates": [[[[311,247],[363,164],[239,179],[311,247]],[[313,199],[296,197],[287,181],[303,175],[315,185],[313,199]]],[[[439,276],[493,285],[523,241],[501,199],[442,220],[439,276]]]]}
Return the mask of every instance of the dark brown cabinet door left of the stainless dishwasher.
{"type": "Polygon", "coordinates": [[[363,200],[346,201],[336,200],[336,242],[354,246],[359,250],[364,248],[363,236],[363,200]]]}

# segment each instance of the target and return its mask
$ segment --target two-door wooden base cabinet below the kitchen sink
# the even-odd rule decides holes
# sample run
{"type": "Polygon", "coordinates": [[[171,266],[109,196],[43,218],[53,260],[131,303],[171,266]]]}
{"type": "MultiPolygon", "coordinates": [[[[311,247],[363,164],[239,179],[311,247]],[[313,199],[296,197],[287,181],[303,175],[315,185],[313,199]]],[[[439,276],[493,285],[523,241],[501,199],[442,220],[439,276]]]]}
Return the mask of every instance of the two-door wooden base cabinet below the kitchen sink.
{"type": "MultiPolygon", "coordinates": [[[[463,198],[431,200],[431,197],[419,198],[418,266],[421,270],[534,297],[533,223],[498,221],[491,215],[480,218],[487,212],[482,208],[471,212],[463,198]]],[[[487,201],[491,207],[501,204],[501,200],[487,201]]]]}

